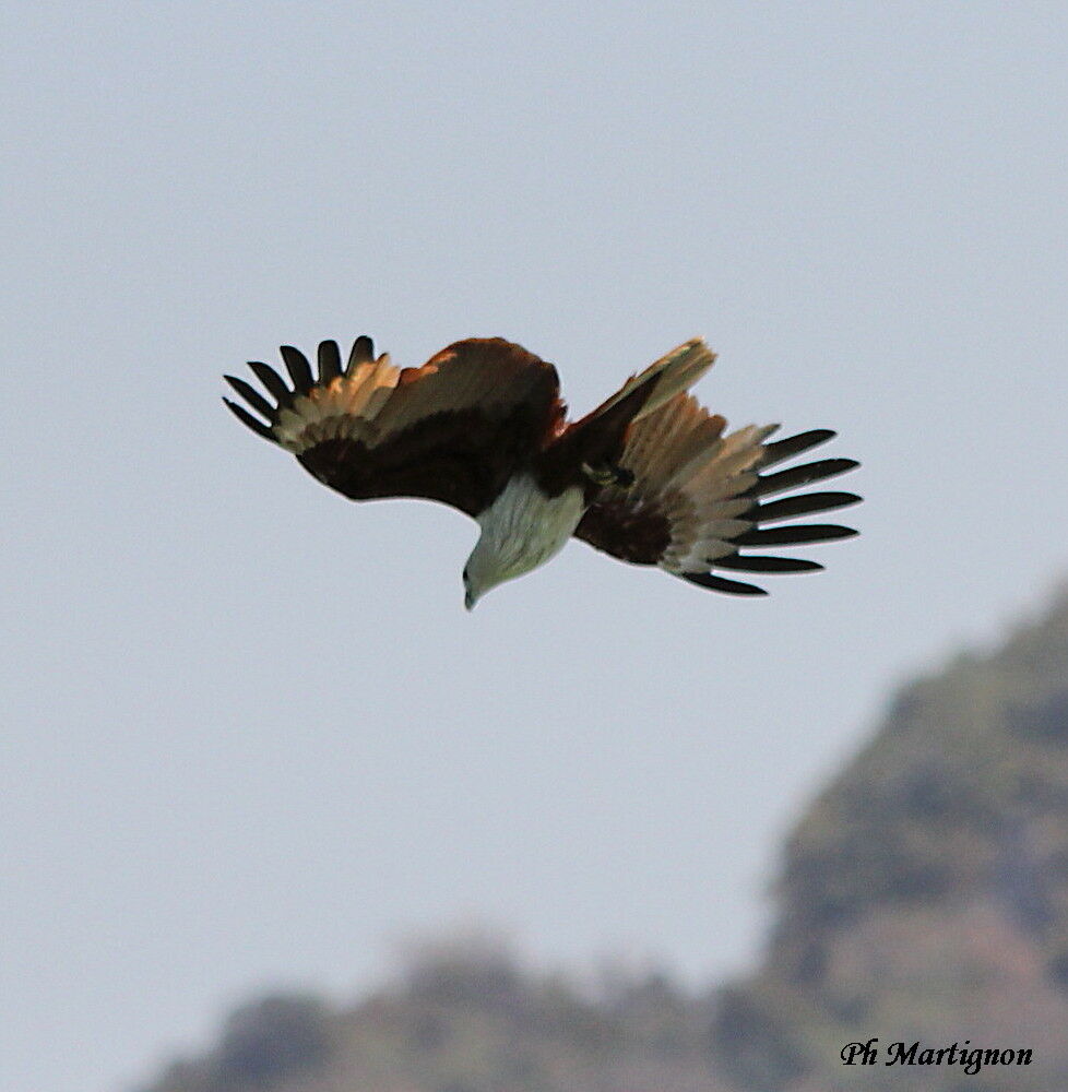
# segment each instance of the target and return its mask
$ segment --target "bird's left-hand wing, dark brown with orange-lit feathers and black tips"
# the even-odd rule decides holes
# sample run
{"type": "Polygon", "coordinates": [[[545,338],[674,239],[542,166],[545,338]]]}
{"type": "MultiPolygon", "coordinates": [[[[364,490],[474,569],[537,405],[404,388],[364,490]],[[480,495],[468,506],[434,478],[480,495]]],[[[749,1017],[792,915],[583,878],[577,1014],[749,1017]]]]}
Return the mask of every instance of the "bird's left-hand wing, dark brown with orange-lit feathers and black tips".
{"type": "Polygon", "coordinates": [[[422,497],[477,515],[562,418],[556,368],[500,337],[456,342],[422,368],[375,358],[358,337],[342,368],[337,343],[319,345],[319,377],[283,346],[293,389],[252,363],[273,404],[226,380],[263,418],[223,401],[258,435],[292,451],[324,485],[351,497],[422,497]]]}

